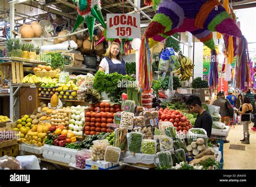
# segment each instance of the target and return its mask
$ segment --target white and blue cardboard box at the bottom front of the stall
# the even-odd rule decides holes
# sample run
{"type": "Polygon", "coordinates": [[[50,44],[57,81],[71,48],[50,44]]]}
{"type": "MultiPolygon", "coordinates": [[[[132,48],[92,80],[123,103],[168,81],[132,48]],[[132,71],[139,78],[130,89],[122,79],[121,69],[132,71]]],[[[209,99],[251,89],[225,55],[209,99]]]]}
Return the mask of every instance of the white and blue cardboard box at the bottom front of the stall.
{"type": "Polygon", "coordinates": [[[91,159],[85,160],[85,169],[93,169],[93,170],[110,170],[114,168],[118,168],[119,164],[114,164],[111,162],[105,161],[92,161],[91,159]]]}

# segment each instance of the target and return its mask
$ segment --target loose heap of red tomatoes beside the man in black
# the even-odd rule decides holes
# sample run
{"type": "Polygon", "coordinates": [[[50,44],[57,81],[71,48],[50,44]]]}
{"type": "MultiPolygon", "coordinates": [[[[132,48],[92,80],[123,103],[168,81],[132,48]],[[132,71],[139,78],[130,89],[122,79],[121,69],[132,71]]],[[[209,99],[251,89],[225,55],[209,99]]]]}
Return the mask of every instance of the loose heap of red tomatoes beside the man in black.
{"type": "Polygon", "coordinates": [[[178,110],[159,109],[159,121],[170,121],[178,132],[187,133],[192,128],[190,120],[178,110]]]}

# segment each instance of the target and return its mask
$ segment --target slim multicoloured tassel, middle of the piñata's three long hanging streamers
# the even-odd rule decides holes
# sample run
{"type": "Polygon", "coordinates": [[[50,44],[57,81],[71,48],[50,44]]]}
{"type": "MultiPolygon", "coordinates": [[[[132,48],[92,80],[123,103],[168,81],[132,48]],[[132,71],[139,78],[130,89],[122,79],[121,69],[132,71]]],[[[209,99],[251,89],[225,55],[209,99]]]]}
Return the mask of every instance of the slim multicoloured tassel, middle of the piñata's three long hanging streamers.
{"type": "Polygon", "coordinates": [[[216,88],[219,83],[218,57],[215,50],[211,51],[211,62],[209,70],[209,85],[216,88]]]}

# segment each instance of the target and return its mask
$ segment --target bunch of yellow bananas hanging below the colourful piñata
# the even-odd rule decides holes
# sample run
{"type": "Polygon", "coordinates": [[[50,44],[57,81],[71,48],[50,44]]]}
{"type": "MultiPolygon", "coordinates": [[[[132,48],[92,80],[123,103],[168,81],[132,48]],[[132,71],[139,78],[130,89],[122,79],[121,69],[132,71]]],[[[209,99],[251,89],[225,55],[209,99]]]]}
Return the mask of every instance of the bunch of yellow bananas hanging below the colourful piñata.
{"type": "Polygon", "coordinates": [[[190,77],[193,76],[192,70],[194,68],[194,64],[189,57],[186,57],[183,54],[179,54],[178,61],[180,66],[177,68],[177,75],[180,75],[179,78],[181,81],[189,81],[190,77]]]}

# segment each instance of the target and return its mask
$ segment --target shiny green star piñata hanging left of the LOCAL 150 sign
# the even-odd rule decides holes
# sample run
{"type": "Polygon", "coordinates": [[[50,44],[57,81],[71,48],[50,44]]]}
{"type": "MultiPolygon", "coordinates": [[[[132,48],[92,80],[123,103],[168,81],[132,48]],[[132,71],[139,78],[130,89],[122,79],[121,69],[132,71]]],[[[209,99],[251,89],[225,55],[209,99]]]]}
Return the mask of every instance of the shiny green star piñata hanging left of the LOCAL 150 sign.
{"type": "Polygon", "coordinates": [[[73,0],[77,4],[77,19],[75,26],[73,28],[73,32],[76,31],[77,27],[83,23],[83,21],[86,21],[87,28],[89,30],[90,39],[93,39],[93,30],[94,30],[94,24],[95,19],[99,21],[100,24],[104,28],[106,28],[106,24],[102,15],[102,8],[100,7],[100,1],[99,0],[73,0]]]}

